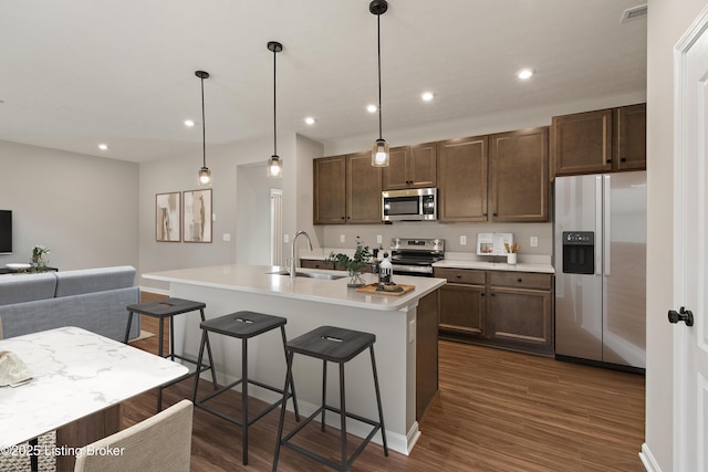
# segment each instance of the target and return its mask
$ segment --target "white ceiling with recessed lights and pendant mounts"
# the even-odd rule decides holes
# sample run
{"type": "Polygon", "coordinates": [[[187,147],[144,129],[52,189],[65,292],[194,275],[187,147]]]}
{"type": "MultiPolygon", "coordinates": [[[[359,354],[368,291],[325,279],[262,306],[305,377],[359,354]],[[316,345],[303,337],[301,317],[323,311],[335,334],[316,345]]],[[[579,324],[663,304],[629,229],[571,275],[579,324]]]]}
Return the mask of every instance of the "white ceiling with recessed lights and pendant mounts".
{"type": "MultiPolygon", "coordinates": [[[[386,132],[646,90],[643,0],[389,0],[386,132]],[[535,75],[516,74],[531,67],[535,75]],[[425,103],[420,93],[431,91],[425,103]]],[[[129,161],[272,137],[378,137],[369,0],[0,0],[0,139],[129,161]],[[309,126],[305,116],[316,119],[309,126]],[[188,128],[186,118],[197,126],[188,128]],[[98,143],[110,148],[102,151],[98,143]]],[[[362,148],[369,146],[369,141],[362,148]]]]}

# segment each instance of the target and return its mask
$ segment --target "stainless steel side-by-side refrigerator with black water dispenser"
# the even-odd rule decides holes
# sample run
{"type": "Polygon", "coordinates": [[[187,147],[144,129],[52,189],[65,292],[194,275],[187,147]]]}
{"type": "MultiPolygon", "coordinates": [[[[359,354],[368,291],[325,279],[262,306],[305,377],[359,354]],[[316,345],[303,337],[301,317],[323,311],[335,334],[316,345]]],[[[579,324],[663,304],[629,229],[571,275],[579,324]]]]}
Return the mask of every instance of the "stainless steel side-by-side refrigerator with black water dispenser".
{"type": "Polygon", "coordinates": [[[646,367],[646,171],[556,177],[555,356],[646,367]]]}

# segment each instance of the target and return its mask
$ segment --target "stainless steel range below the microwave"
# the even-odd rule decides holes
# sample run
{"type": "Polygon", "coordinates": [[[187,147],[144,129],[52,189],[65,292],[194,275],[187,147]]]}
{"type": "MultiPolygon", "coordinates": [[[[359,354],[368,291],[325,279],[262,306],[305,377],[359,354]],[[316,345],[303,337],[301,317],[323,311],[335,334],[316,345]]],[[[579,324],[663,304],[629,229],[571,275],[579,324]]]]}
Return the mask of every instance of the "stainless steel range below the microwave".
{"type": "Polygon", "coordinates": [[[444,239],[391,240],[391,263],[394,274],[433,276],[433,264],[445,259],[444,239]]]}

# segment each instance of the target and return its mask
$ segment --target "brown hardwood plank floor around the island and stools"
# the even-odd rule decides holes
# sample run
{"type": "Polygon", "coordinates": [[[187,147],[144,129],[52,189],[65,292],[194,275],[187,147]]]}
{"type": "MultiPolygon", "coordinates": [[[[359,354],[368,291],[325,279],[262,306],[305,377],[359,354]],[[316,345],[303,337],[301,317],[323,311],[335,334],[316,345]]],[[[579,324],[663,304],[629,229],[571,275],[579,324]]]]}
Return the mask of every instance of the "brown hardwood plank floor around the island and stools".
{"type": "MultiPolygon", "coordinates": [[[[157,324],[143,317],[143,329],[155,333],[157,324]]],[[[136,346],[156,353],[157,336],[136,346]]],[[[643,376],[445,340],[439,356],[440,395],[412,454],[391,451],[385,458],[382,447],[369,444],[352,471],[644,471],[637,455],[644,442],[643,376]]],[[[199,385],[200,392],[209,391],[210,382],[199,385]]],[[[164,406],[190,398],[191,387],[186,380],[166,389],[164,406]]],[[[227,394],[212,405],[235,415],[238,399],[238,392],[227,394]]],[[[155,402],[156,391],[127,401],[124,427],[154,415],[155,402]]],[[[191,469],[271,470],[278,412],[250,427],[249,465],[243,466],[241,429],[195,409],[191,469]]],[[[293,424],[289,413],[285,430],[293,424]]],[[[299,438],[309,447],[339,451],[336,440],[323,439],[327,432],[323,437],[312,427],[299,438]]],[[[281,449],[279,470],[331,469],[281,449]]]]}

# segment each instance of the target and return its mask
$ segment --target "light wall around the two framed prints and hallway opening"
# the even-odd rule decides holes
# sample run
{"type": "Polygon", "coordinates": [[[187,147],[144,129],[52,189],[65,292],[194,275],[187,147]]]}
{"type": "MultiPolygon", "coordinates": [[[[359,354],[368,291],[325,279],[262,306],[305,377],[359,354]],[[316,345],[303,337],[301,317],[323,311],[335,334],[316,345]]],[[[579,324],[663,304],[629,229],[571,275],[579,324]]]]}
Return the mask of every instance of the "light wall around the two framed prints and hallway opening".
{"type": "MultiPolygon", "coordinates": [[[[283,230],[294,233],[298,225],[296,179],[300,164],[296,155],[295,134],[282,133],[279,136],[279,155],[283,159],[283,177],[280,185],[283,189],[283,230]]],[[[201,167],[200,149],[194,154],[175,156],[170,159],[140,164],[139,185],[139,272],[156,272],[170,269],[195,268],[215,264],[228,264],[237,261],[238,234],[251,221],[239,219],[238,175],[240,170],[249,169],[251,165],[264,162],[272,155],[270,138],[233,143],[228,145],[212,145],[207,143],[207,166],[212,176],[212,212],[216,221],[212,223],[212,242],[156,242],[155,241],[155,195],[171,191],[194,190],[197,186],[197,171],[201,167]],[[239,170],[240,169],[240,170],[239,170]],[[231,235],[231,241],[223,241],[223,234],[231,235]]],[[[312,158],[303,157],[312,168],[312,158]]],[[[263,168],[264,171],[264,168],[263,168]]],[[[270,183],[264,180],[266,188],[270,183]]],[[[266,193],[268,196],[268,191],[266,193]]],[[[248,206],[247,201],[242,204],[248,206]]],[[[311,220],[311,218],[310,218],[311,220]]],[[[251,243],[247,242],[249,247],[251,243]]],[[[156,281],[138,279],[144,287],[166,290],[167,285],[156,281]]]]}

